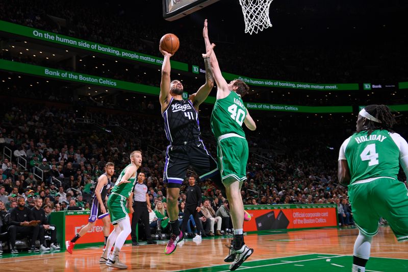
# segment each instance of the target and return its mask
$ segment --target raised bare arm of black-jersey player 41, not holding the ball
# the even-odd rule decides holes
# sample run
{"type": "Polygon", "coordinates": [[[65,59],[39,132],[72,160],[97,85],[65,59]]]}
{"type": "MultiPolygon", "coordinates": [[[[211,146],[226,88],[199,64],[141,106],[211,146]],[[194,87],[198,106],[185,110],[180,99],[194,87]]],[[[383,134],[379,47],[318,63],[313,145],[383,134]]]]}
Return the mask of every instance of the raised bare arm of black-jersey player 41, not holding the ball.
{"type": "Polygon", "coordinates": [[[207,48],[207,53],[202,54],[204,64],[206,65],[206,83],[202,85],[196,93],[191,94],[189,97],[189,99],[193,102],[194,108],[196,110],[198,110],[198,106],[207,99],[208,95],[214,87],[213,71],[210,63],[210,56],[213,52],[214,46],[215,44],[212,44],[207,48]]]}

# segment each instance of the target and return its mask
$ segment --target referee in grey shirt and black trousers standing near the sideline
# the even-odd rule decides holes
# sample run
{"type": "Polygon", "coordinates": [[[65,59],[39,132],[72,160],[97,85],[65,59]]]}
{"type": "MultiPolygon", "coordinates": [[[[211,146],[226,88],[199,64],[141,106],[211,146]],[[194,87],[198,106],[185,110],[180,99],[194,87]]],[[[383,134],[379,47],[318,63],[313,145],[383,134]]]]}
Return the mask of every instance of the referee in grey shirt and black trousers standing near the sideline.
{"type": "Polygon", "coordinates": [[[145,175],[140,172],[137,176],[137,183],[133,190],[133,215],[132,215],[132,245],[138,245],[136,238],[136,225],[139,219],[142,218],[144,224],[144,231],[146,233],[147,244],[155,244],[151,239],[150,225],[149,225],[149,210],[151,210],[149,196],[147,195],[147,186],[143,183],[145,175]]]}

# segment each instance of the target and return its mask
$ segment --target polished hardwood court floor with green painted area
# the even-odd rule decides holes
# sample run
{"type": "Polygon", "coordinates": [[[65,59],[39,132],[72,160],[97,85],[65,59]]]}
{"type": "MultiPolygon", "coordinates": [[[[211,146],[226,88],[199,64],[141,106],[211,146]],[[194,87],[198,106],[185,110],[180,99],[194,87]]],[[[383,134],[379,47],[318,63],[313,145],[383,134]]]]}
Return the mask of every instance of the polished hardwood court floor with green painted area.
{"type": "MultiPolygon", "coordinates": [[[[239,270],[270,271],[350,271],[357,229],[319,229],[267,235],[247,235],[245,242],[254,254],[239,270]],[[348,255],[348,256],[345,256],[348,255]]],[[[123,246],[120,259],[132,271],[225,271],[225,244],[231,237],[185,240],[170,256],[165,242],[158,245],[123,246]]],[[[0,257],[0,271],[112,271],[99,265],[101,248],[78,249],[51,254],[0,257]]],[[[389,227],[381,227],[371,246],[366,271],[408,271],[408,243],[398,243],[389,227]]]]}

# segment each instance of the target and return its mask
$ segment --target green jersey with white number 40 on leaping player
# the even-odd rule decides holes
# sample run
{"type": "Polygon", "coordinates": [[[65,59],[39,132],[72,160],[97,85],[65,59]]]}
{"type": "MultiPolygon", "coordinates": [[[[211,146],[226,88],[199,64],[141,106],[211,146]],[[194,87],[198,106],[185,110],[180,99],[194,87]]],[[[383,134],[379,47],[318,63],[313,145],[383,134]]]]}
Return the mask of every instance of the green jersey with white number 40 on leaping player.
{"type": "Polygon", "coordinates": [[[230,91],[226,97],[217,99],[211,114],[211,130],[215,138],[227,133],[236,133],[245,137],[242,123],[246,116],[246,108],[241,96],[230,91]]]}

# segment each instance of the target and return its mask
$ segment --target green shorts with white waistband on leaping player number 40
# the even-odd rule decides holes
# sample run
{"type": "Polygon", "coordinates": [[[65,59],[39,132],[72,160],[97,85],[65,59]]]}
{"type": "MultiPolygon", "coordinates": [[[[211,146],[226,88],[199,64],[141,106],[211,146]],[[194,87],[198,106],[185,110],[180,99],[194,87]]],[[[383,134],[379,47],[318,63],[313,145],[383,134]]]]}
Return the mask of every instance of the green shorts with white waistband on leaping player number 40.
{"type": "Polygon", "coordinates": [[[244,137],[235,133],[218,137],[217,156],[222,183],[246,180],[248,154],[248,142],[244,137]]]}

